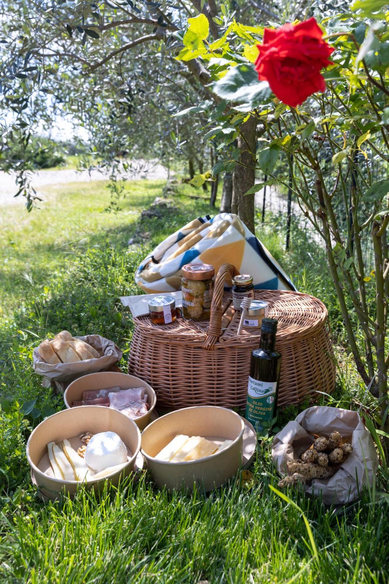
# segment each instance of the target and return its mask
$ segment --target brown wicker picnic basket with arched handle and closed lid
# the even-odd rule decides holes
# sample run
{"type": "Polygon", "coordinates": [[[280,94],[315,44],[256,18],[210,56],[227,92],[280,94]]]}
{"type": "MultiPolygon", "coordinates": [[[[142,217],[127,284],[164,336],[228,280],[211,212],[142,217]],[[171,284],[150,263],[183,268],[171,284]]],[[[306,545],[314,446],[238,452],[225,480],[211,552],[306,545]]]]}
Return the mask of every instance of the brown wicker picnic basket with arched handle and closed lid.
{"type": "MultiPolygon", "coordinates": [[[[129,373],[141,377],[157,392],[159,409],[193,405],[245,408],[252,349],[261,332],[237,329],[240,313],[224,291],[237,270],[224,264],[218,271],[211,319],[177,319],[169,326],[153,325],[148,316],[134,318],[128,359],[129,373]]],[[[279,405],[298,404],[316,392],[335,386],[335,362],[328,334],[327,308],[317,298],[294,291],[259,290],[255,298],[269,304],[277,318],[277,350],[282,354],[279,405]]]]}

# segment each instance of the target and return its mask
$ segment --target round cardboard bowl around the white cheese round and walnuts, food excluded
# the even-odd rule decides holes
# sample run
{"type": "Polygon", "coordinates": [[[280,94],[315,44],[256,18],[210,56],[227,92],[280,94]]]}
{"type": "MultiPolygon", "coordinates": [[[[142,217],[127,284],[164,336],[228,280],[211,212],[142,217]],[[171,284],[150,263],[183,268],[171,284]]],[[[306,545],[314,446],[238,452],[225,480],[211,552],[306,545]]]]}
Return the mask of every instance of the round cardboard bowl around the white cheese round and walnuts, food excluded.
{"type": "Polygon", "coordinates": [[[127,464],[112,475],[107,475],[96,481],[88,481],[88,488],[99,489],[105,481],[117,485],[123,475],[127,475],[135,468],[135,461],[141,446],[141,434],[136,423],[124,413],[112,408],[90,405],[88,407],[65,409],[54,413],[37,426],[27,442],[26,454],[30,463],[34,479],[41,493],[49,499],[58,499],[62,492],[75,495],[78,481],[65,481],[54,478],[48,459],[47,444],[68,439],[71,446],[77,450],[82,446],[79,434],[83,432],[116,432],[127,446],[127,464]],[[50,469],[51,476],[45,474],[50,469]]]}

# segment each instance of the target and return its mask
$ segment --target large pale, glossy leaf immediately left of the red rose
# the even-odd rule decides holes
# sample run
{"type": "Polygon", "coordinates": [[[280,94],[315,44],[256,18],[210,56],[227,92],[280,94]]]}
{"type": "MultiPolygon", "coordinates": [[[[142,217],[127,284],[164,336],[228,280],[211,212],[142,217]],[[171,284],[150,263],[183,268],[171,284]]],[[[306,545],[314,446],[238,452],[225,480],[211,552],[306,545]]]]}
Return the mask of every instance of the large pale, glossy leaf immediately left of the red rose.
{"type": "Polygon", "coordinates": [[[242,104],[235,109],[245,112],[268,103],[272,95],[268,82],[258,81],[258,75],[251,65],[232,67],[213,85],[213,91],[222,99],[242,104]]]}

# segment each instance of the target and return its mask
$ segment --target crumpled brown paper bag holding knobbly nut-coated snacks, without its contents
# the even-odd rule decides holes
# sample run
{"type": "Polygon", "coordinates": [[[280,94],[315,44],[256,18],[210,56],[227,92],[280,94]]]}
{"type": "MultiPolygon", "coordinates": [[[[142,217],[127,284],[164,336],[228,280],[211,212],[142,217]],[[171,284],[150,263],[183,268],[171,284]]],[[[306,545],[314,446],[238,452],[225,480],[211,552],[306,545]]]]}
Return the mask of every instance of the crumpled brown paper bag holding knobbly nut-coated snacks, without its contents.
{"type": "Polygon", "coordinates": [[[338,430],[343,442],[350,442],[352,453],[333,477],[313,479],[305,485],[305,492],[319,495],[326,505],[348,503],[359,496],[363,486],[373,484],[378,467],[378,457],[370,433],[360,416],[347,409],[313,406],[301,412],[294,422],[276,434],[272,444],[272,457],[277,471],[287,473],[286,463],[299,458],[314,440],[314,434],[329,437],[338,430]]]}

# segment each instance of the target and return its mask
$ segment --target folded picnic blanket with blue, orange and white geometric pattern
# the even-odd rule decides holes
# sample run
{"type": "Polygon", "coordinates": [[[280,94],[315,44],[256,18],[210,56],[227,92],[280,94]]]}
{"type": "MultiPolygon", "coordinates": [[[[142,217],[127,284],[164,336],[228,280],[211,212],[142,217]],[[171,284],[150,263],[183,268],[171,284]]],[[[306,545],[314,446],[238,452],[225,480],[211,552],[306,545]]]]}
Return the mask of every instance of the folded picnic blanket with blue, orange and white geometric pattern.
{"type": "Polygon", "coordinates": [[[252,275],[256,290],[296,290],[268,249],[231,213],[199,217],[169,235],[141,262],[135,281],[149,294],[180,290],[186,263],[210,263],[216,273],[232,263],[252,275]]]}

